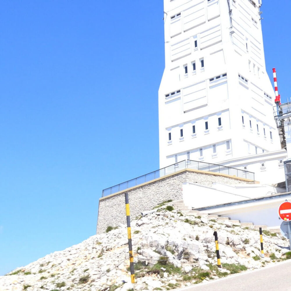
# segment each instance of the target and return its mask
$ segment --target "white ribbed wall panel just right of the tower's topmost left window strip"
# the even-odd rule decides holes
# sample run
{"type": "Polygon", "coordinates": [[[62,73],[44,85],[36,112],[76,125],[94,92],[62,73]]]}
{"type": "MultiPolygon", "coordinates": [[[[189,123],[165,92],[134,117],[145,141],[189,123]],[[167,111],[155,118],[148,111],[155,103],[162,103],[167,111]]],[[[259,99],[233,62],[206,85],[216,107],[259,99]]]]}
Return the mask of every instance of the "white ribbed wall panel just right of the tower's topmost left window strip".
{"type": "Polygon", "coordinates": [[[196,5],[183,11],[184,31],[189,30],[205,22],[204,2],[200,1],[196,5]]]}

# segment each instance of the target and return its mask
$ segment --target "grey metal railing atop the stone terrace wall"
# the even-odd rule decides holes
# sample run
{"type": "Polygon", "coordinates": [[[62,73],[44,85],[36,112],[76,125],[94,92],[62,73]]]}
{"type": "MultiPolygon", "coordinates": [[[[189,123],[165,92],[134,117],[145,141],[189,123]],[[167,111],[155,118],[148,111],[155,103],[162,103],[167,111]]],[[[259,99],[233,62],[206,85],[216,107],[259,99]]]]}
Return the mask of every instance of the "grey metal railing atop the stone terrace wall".
{"type": "Polygon", "coordinates": [[[221,173],[221,174],[227,174],[230,176],[236,176],[238,178],[245,178],[254,181],[255,180],[255,174],[252,172],[239,170],[236,168],[231,168],[227,166],[217,165],[217,164],[210,164],[205,162],[198,162],[198,161],[192,161],[192,160],[184,160],[178,163],[175,163],[173,165],[167,166],[165,168],[150,172],[148,174],[139,176],[137,178],[134,178],[132,180],[128,180],[126,182],[117,184],[115,186],[106,188],[102,190],[102,197],[114,194],[119,191],[123,191],[125,189],[143,184],[145,182],[150,182],[152,180],[155,180],[157,178],[164,177],[169,174],[173,174],[175,172],[185,170],[185,169],[192,169],[192,170],[201,170],[201,171],[207,171],[207,172],[214,172],[214,173],[221,173]]]}

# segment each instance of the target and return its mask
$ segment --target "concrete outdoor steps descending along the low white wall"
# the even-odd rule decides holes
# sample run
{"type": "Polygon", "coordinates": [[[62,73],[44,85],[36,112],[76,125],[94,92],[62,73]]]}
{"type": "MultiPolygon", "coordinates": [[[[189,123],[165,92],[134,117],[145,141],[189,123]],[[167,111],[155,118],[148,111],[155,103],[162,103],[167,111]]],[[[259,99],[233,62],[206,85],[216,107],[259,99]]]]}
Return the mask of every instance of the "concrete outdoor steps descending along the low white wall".
{"type": "Polygon", "coordinates": [[[181,211],[184,214],[188,214],[188,215],[195,215],[195,216],[201,216],[201,217],[207,217],[208,219],[217,219],[217,221],[229,221],[232,222],[235,225],[239,225],[241,227],[249,227],[251,229],[259,229],[260,227],[262,228],[262,230],[266,230],[267,226],[266,225],[254,225],[252,222],[240,222],[239,220],[235,220],[235,219],[230,219],[229,217],[222,217],[222,216],[218,216],[218,215],[213,215],[213,214],[207,214],[206,212],[203,211],[199,211],[199,210],[191,210],[189,208],[187,208],[185,206],[185,204],[183,203],[183,200],[176,200],[173,202],[169,202],[166,205],[172,205],[173,207],[175,207],[178,211],[181,211]]]}

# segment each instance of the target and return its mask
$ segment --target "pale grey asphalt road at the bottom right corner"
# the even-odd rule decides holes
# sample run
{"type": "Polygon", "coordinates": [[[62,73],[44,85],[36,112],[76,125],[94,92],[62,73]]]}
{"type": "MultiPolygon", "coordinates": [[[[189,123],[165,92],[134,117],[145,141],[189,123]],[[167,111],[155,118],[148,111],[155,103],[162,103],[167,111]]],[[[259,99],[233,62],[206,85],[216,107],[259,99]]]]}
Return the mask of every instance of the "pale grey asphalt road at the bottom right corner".
{"type": "Polygon", "coordinates": [[[291,291],[291,260],[176,290],[291,291]]]}

